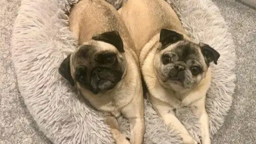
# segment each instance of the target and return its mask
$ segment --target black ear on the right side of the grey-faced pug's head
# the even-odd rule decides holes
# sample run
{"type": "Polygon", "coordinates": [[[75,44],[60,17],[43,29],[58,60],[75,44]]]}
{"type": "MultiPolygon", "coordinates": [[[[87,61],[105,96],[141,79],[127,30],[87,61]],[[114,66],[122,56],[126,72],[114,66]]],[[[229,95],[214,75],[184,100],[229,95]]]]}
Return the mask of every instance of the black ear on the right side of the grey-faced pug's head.
{"type": "Polygon", "coordinates": [[[207,60],[207,65],[209,66],[209,63],[212,61],[217,65],[217,60],[220,58],[220,54],[207,44],[199,43],[199,45],[201,46],[201,51],[207,60]]]}

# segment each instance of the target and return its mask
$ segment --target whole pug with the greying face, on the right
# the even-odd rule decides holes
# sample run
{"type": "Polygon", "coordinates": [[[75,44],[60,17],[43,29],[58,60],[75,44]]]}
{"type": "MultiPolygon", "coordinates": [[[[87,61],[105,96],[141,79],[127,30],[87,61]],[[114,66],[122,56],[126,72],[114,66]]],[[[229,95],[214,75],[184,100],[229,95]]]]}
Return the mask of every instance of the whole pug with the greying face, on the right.
{"type": "Polygon", "coordinates": [[[129,0],[118,12],[134,40],[157,114],[180,132],[184,143],[199,143],[175,117],[177,108],[189,107],[201,123],[201,143],[211,143],[205,98],[211,84],[210,63],[217,65],[220,54],[194,42],[164,0],[129,0]]]}

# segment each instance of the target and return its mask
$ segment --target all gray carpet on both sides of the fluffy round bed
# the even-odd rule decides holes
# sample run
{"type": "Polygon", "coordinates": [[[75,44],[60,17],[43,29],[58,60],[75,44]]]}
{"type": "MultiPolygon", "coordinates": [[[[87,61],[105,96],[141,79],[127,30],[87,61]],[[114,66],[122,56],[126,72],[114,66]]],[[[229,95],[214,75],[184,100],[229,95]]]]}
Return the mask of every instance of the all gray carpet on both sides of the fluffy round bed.
{"type": "MultiPolygon", "coordinates": [[[[256,11],[234,0],[213,0],[237,51],[234,104],[213,143],[256,143],[256,11]]],[[[20,0],[0,0],[0,143],[50,143],[29,115],[11,62],[11,33],[20,0]]]]}

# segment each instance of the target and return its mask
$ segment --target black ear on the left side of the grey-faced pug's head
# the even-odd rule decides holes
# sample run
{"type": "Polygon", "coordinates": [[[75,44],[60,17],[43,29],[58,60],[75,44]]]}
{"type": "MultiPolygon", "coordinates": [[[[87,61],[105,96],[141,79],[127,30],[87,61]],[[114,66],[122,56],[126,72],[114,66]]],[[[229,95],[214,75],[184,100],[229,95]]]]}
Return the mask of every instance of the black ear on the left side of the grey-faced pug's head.
{"type": "Polygon", "coordinates": [[[161,42],[163,46],[166,46],[167,44],[173,44],[175,42],[181,41],[182,39],[183,36],[181,34],[172,30],[162,29],[160,32],[159,42],[161,42]]]}

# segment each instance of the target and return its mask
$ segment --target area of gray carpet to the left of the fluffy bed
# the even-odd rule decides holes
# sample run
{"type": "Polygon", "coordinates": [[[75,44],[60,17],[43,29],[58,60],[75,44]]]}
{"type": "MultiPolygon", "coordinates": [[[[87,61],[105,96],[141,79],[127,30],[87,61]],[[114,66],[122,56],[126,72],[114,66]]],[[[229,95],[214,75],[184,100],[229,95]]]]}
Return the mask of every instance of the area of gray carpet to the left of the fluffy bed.
{"type": "Polygon", "coordinates": [[[21,97],[11,61],[11,34],[20,0],[0,0],[0,143],[50,143],[21,97]]]}

